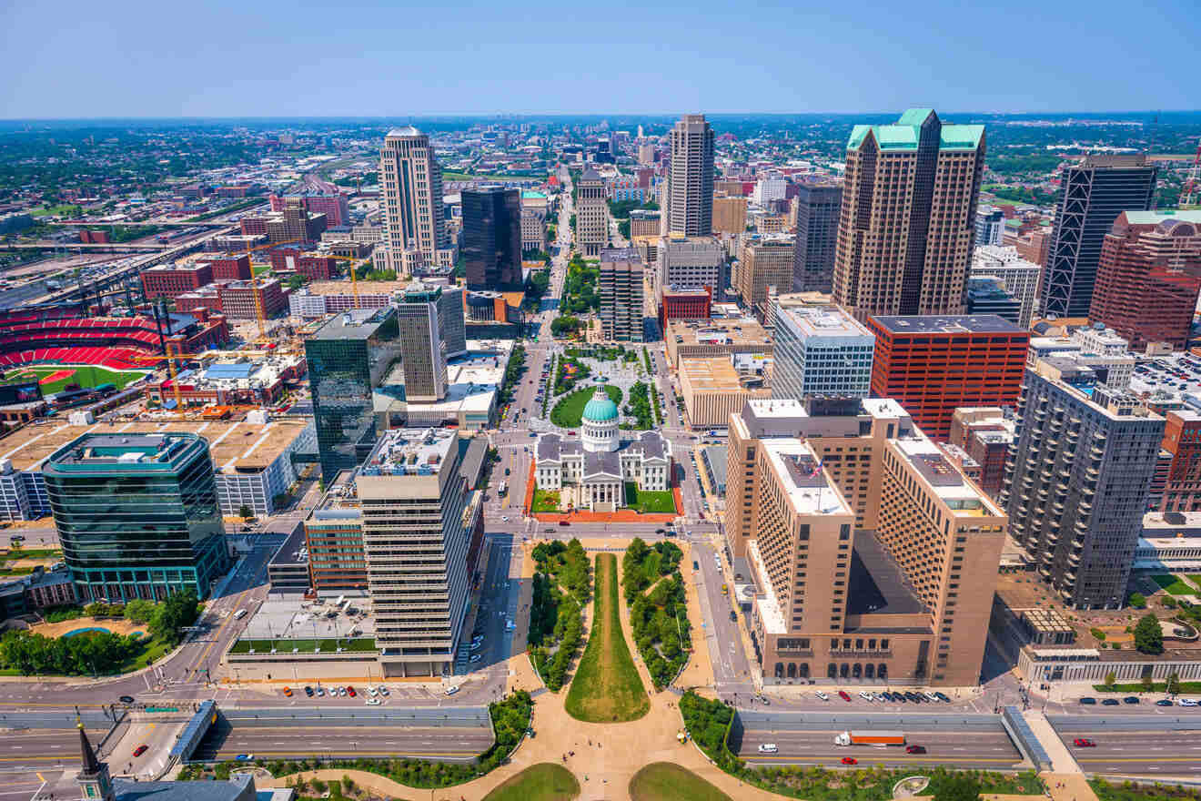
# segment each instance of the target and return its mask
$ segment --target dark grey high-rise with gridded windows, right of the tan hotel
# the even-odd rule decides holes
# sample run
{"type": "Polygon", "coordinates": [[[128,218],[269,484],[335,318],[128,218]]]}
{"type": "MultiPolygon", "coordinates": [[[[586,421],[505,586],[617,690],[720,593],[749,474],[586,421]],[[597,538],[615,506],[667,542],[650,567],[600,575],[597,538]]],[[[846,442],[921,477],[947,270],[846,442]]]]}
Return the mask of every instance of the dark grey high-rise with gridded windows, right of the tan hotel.
{"type": "Polygon", "coordinates": [[[1076,609],[1119,609],[1164,418],[1069,357],[1026,371],[1000,506],[1039,575],[1076,609]]]}

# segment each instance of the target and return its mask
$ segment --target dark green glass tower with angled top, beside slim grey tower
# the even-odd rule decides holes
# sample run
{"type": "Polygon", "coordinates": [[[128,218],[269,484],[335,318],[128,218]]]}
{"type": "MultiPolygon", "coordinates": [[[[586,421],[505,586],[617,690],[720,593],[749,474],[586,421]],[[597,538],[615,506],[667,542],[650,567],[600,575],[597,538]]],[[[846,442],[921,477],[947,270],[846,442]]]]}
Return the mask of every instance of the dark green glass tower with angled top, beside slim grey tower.
{"type": "Polygon", "coordinates": [[[304,343],[321,473],[329,484],[375,446],[372,391],[400,360],[396,310],[355,309],[330,317],[304,343]]]}

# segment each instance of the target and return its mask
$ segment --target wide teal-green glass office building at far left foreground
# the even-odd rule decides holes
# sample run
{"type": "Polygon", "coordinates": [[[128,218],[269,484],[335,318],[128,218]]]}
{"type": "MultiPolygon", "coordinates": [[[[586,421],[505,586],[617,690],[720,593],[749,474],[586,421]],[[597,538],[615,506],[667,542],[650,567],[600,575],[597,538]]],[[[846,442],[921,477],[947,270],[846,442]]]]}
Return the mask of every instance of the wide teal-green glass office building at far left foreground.
{"type": "Polygon", "coordinates": [[[229,569],[209,447],[196,434],[85,434],[42,468],[84,600],[195,590],[229,569]]]}

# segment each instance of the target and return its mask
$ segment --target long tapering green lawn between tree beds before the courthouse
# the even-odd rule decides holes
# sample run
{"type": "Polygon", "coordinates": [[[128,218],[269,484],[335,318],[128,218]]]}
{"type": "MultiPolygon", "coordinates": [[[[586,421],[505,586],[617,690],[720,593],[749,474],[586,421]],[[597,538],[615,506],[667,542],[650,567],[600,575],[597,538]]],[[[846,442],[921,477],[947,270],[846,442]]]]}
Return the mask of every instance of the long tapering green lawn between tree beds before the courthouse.
{"type": "Polygon", "coordinates": [[[584,657],[567,693],[567,713],[587,723],[637,721],[651,704],[617,617],[617,557],[599,554],[596,609],[584,657]]]}

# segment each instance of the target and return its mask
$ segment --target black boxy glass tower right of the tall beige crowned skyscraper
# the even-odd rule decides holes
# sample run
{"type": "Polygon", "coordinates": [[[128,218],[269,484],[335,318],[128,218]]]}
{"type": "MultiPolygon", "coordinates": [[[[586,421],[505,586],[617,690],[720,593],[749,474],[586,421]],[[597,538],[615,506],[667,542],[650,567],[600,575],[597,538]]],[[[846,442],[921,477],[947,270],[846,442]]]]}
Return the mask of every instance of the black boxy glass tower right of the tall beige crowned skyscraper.
{"type": "Polygon", "coordinates": [[[465,189],[461,197],[467,288],[520,292],[521,191],[484,186],[465,189]]]}

